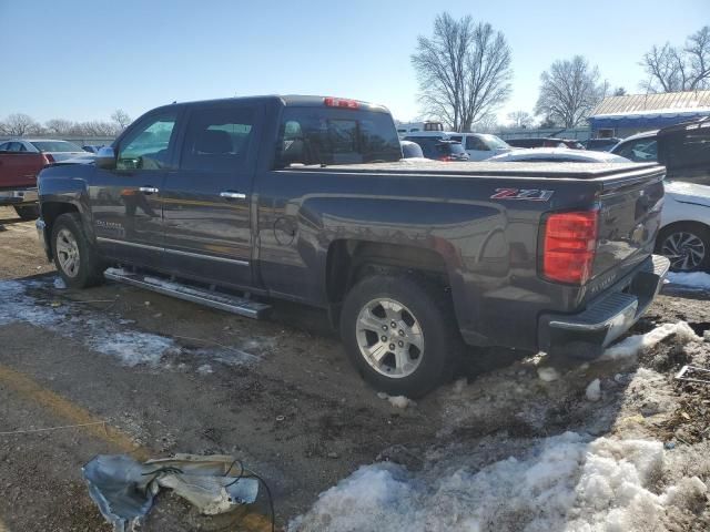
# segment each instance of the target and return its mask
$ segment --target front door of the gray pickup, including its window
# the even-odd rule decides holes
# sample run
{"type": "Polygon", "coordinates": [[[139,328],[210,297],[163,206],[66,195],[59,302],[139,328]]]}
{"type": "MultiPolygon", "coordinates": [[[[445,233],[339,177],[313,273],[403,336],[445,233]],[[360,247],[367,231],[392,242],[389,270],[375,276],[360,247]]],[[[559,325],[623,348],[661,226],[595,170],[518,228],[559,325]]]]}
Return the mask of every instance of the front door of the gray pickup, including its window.
{"type": "Polygon", "coordinates": [[[106,255],[156,267],[163,253],[161,187],[172,164],[176,110],[133,124],[114,146],[113,170],[97,168],[89,188],[97,242],[106,255]]]}

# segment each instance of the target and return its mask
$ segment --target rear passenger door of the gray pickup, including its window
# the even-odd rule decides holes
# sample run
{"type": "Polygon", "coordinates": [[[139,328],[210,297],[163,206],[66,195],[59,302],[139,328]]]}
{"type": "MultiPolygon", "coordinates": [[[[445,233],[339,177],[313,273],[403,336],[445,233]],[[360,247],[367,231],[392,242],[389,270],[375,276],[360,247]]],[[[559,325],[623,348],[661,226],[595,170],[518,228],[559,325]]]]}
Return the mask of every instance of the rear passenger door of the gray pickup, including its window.
{"type": "Polygon", "coordinates": [[[163,186],[163,269],[209,283],[252,283],[251,194],[263,109],[190,110],[178,170],[163,186]]]}

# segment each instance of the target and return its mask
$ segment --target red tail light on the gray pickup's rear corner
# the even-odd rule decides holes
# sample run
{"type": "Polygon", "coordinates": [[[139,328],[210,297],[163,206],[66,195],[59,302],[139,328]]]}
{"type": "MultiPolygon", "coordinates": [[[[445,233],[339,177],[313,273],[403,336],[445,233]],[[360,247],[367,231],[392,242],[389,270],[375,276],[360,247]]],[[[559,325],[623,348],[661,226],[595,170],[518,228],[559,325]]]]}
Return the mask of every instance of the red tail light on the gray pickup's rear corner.
{"type": "Polygon", "coordinates": [[[591,277],[597,250],[599,211],[557,213],[545,224],[542,275],[559,283],[584,285],[591,277]]]}

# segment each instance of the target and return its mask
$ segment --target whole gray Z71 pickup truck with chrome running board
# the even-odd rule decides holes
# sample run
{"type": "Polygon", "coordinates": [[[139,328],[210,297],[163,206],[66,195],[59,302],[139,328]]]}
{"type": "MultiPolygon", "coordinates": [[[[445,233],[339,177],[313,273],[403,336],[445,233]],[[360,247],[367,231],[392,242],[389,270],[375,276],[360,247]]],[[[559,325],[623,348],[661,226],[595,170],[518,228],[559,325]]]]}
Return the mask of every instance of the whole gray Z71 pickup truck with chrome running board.
{"type": "Polygon", "coordinates": [[[38,229],[70,287],[322,307],[371,385],[417,397],[466,345],[591,358],[628,330],[668,269],[663,175],[402,160],[387,110],[354,100],[175,103],[43,170],[38,229]]]}

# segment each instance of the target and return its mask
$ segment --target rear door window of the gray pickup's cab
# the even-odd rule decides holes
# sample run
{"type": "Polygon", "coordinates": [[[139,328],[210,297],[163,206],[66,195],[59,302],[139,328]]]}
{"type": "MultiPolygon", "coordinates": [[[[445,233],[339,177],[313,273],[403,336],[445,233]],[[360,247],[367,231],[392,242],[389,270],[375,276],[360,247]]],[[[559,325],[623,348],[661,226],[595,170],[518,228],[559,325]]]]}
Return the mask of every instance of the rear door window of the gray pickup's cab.
{"type": "Polygon", "coordinates": [[[180,168],[230,172],[246,166],[255,109],[247,106],[195,109],[190,115],[180,168]]]}

